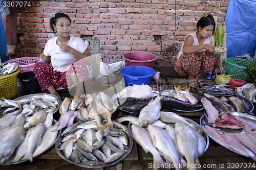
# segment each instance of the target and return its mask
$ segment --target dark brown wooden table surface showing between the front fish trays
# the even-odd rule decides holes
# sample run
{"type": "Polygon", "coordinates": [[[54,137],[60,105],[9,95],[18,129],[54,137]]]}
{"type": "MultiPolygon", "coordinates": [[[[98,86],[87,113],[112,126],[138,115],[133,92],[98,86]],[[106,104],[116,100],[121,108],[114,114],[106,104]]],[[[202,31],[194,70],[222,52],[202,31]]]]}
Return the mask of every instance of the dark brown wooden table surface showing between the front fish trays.
{"type": "MultiPolygon", "coordinates": [[[[119,113],[121,114],[121,113],[119,113]]],[[[202,115],[202,111],[196,114],[193,113],[181,113],[193,119],[199,123],[199,115],[202,115]],[[196,116],[195,116],[196,115],[196,116]]],[[[123,115],[123,114],[122,114],[123,115]]],[[[255,169],[256,161],[250,158],[233,153],[214,140],[209,139],[209,147],[207,151],[200,157],[200,163],[202,166],[206,166],[203,169],[255,169]],[[236,167],[237,166],[237,167],[236,167]],[[247,168],[243,168],[247,166],[247,168]],[[249,167],[250,166],[250,167],[249,167]]],[[[131,153],[120,163],[105,167],[106,170],[124,170],[124,169],[153,169],[153,156],[151,153],[145,153],[139,144],[134,142],[131,153]]],[[[53,146],[45,153],[35,157],[33,162],[29,161],[15,164],[15,165],[2,165],[0,169],[86,169],[76,166],[63,160],[56,152],[53,146]]]]}

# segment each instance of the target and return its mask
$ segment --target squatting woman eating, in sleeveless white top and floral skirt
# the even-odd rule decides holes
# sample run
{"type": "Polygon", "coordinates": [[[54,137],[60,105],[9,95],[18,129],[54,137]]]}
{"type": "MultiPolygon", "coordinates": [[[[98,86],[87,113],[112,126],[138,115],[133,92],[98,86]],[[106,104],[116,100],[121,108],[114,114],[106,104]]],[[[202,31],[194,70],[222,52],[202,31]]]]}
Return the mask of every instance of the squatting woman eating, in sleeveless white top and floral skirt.
{"type": "Polygon", "coordinates": [[[188,76],[192,88],[207,86],[201,76],[210,71],[220,71],[219,55],[212,54],[215,46],[211,44],[210,37],[215,25],[214,17],[205,14],[197,22],[198,31],[188,34],[182,43],[174,68],[178,74],[188,76]]]}

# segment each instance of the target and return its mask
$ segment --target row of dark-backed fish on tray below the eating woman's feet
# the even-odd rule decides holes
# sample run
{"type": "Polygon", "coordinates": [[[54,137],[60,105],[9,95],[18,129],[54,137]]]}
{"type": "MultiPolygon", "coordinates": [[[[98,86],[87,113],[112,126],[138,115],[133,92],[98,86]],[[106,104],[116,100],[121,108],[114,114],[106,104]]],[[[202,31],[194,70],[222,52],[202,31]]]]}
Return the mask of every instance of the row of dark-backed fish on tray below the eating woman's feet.
{"type": "Polygon", "coordinates": [[[244,111],[250,111],[251,106],[248,105],[248,103],[239,98],[239,96],[222,96],[217,97],[214,95],[210,95],[208,93],[204,93],[204,96],[207,100],[209,100],[219,112],[223,111],[232,111],[232,112],[244,112],[244,111]]]}

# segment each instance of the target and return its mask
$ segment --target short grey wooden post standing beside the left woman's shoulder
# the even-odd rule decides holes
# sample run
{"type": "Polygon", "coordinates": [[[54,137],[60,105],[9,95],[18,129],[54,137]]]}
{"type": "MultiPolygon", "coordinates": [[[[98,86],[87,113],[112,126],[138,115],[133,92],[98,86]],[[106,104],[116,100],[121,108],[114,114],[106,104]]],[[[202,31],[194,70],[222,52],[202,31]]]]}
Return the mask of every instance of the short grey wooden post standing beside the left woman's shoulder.
{"type": "Polygon", "coordinates": [[[99,51],[99,39],[94,37],[91,45],[91,54],[93,59],[93,64],[91,65],[92,77],[96,77],[100,74],[100,51],[99,51]]]}

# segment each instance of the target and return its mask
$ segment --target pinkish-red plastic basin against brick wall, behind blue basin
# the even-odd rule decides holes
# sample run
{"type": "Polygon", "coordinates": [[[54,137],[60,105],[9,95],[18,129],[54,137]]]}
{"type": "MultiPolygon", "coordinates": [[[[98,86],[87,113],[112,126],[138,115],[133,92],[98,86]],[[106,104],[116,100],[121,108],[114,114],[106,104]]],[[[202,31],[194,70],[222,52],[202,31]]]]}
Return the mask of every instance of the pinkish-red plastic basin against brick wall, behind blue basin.
{"type": "Polygon", "coordinates": [[[122,57],[125,61],[125,66],[130,65],[143,65],[153,68],[157,56],[147,52],[131,52],[126,53],[122,57]]]}

